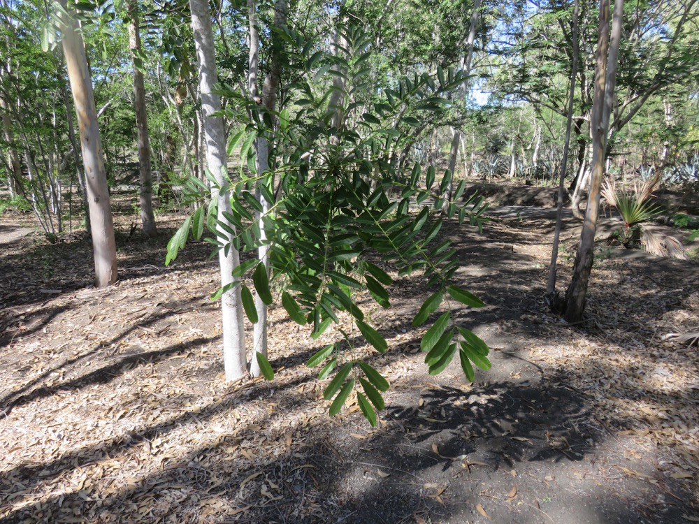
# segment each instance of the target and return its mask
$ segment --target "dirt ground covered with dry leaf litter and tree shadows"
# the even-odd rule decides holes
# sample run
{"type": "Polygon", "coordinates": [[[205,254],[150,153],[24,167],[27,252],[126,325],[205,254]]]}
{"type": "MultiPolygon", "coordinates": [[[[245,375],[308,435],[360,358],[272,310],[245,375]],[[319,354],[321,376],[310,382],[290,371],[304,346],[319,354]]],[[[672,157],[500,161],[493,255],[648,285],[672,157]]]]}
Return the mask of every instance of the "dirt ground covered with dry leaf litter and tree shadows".
{"type": "MultiPolygon", "coordinates": [[[[169,268],[161,236],[117,235],[120,281],[92,288],[80,235],[49,245],[0,218],[0,521],[3,523],[699,522],[696,263],[600,245],[589,320],[544,299],[550,210],[493,209],[452,225],[459,284],[487,304],[459,319],[493,369],[430,377],[410,326],[429,290],[398,280],[366,314],[389,340],[370,428],[335,418],[303,364],[313,341],[271,312],[274,381],[224,384],[215,263],[192,243],[169,268]]],[[[559,286],[577,224],[565,220],[559,286]]],[[[327,380],[327,379],[326,379],[327,380]]]]}

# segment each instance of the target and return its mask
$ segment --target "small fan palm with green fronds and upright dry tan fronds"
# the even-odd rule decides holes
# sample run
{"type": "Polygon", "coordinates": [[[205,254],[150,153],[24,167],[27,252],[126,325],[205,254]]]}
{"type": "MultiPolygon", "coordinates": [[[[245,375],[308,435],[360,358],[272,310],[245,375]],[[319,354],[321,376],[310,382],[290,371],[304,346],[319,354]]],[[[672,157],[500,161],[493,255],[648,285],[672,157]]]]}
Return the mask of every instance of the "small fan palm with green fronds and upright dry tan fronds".
{"type": "Polygon", "coordinates": [[[634,182],[633,191],[617,189],[617,183],[607,178],[601,191],[602,196],[612,208],[617,208],[621,219],[624,220],[624,231],[620,232],[621,244],[625,247],[640,245],[640,224],[654,219],[661,209],[654,205],[651,198],[653,191],[660,184],[660,173],[647,179],[641,186],[634,182]]]}

